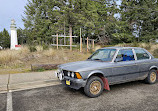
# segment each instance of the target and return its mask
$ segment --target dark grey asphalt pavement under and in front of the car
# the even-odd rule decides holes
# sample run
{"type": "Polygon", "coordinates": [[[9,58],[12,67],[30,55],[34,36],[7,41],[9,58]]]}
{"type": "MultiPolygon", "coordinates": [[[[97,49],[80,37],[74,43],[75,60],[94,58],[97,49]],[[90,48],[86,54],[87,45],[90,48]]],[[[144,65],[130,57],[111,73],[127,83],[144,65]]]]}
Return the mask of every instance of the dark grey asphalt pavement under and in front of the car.
{"type": "MultiPolygon", "coordinates": [[[[6,94],[0,95],[2,110],[6,107],[5,97],[6,94]]],[[[157,111],[158,82],[114,85],[98,98],[88,98],[82,89],[76,91],[56,85],[13,92],[12,100],[14,111],[157,111]]]]}

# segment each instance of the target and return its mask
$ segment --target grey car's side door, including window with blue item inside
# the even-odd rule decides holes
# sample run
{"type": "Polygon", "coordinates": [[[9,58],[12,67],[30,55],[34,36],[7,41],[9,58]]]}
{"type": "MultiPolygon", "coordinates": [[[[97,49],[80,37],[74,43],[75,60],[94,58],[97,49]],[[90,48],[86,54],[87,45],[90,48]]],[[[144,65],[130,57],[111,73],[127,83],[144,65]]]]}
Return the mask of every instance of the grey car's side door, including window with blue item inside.
{"type": "Polygon", "coordinates": [[[115,67],[112,68],[112,82],[125,82],[139,77],[138,67],[135,63],[135,56],[132,49],[119,50],[114,64],[115,67]]]}

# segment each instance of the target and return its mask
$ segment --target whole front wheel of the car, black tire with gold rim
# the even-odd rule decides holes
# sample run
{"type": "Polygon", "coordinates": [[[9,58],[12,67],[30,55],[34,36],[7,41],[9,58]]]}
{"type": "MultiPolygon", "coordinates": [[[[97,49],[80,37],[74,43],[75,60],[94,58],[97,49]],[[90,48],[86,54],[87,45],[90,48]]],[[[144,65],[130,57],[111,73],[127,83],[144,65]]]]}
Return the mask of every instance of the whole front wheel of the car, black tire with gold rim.
{"type": "Polygon", "coordinates": [[[84,92],[87,96],[94,98],[101,95],[104,89],[104,83],[101,78],[92,76],[88,79],[84,92]]]}

